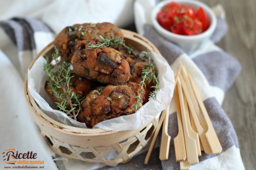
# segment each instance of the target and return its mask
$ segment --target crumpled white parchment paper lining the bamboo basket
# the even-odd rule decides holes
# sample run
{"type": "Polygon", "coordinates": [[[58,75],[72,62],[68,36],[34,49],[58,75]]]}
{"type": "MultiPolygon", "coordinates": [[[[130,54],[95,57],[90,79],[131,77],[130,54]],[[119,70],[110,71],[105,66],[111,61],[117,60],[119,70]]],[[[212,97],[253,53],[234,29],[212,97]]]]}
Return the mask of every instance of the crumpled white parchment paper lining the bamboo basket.
{"type": "MultiPolygon", "coordinates": [[[[154,59],[154,65],[158,70],[159,77],[159,91],[156,94],[156,99],[149,99],[149,101],[134,114],[105,120],[96,124],[93,128],[112,131],[137,129],[154,119],[158,113],[167,108],[173,97],[175,84],[173,71],[163,56],[152,53],[152,57],[154,59]]],[[[45,91],[45,82],[47,80],[46,73],[43,70],[43,64],[45,62],[45,58],[41,56],[33,64],[31,70],[28,70],[29,92],[47,116],[69,126],[87,128],[85,123],[77,122],[68,117],[66,113],[56,110],[56,106],[45,91]]]]}

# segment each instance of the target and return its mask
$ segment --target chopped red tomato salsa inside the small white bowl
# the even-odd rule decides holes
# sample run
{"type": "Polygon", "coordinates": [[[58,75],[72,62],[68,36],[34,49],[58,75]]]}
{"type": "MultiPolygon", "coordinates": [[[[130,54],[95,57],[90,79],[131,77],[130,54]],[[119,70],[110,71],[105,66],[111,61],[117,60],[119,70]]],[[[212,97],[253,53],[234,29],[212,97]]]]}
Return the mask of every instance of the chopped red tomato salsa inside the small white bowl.
{"type": "Polygon", "coordinates": [[[158,23],[168,31],[181,35],[196,35],[209,28],[204,9],[193,8],[171,2],[157,14],[158,23]]]}

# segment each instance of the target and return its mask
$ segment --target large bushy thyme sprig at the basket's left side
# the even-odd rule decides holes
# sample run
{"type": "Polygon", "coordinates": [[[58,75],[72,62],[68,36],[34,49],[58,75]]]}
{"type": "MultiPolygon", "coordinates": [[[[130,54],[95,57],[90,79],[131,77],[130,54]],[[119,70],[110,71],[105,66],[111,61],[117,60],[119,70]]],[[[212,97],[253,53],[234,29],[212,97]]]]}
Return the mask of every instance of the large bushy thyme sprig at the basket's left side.
{"type": "Polygon", "coordinates": [[[47,62],[43,65],[44,70],[49,77],[48,85],[49,91],[55,96],[59,102],[55,102],[59,110],[66,113],[69,117],[73,117],[76,120],[76,116],[81,110],[80,104],[83,102],[84,97],[77,95],[71,88],[70,82],[71,73],[73,71],[69,68],[70,63],[63,62],[59,64],[59,51],[55,48],[55,53],[52,54],[52,60],[55,61],[55,65],[51,64],[49,55],[45,58],[47,62]]]}

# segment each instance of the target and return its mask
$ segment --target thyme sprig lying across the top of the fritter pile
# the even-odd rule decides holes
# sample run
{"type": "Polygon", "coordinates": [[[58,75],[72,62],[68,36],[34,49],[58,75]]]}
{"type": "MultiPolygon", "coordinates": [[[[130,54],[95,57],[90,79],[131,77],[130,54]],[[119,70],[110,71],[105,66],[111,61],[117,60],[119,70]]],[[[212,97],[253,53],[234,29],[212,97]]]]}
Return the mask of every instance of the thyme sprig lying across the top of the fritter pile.
{"type": "Polygon", "coordinates": [[[134,53],[134,48],[132,46],[127,46],[125,44],[125,41],[123,39],[121,39],[121,37],[114,37],[114,36],[111,36],[111,37],[102,37],[100,35],[100,38],[102,40],[102,42],[97,42],[96,44],[92,44],[90,43],[89,46],[87,47],[87,49],[92,49],[94,48],[94,50],[97,50],[98,48],[101,48],[101,47],[112,47],[112,48],[121,48],[121,47],[124,47],[126,48],[126,53],[127,54],[133,54],[136,56],[136,54],[134,53]]]}

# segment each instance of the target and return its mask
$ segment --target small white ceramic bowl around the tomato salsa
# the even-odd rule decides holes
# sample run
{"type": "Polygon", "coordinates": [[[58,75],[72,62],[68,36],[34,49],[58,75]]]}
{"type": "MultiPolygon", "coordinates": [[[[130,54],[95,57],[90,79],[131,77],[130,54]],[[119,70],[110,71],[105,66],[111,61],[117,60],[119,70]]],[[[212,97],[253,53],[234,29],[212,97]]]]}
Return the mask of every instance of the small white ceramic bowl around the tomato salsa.
{"type": "Polygon", "coordinates": [[[164,0],[160,2],[159,4],[154,7],[152,11],[152,23],[154,25],[154,28],[156,29],[159,34],[161,34],[166,39],[172,41],[173,43],[180,46],[180,48],[183,49],[186,53],[190,54],[193,51],[197,50],[205,41],[209,40],[211,35],[213,34],[214,30],[217,26],[217,19],[216,15],[213,13],[210,7],[205,5],[202,2],[199,2],[197,0],[164,0]],[[201,34],[197,35],[180,35],[172,33],[166,29],[164,29],[156,20],[157,13],[161,10],[161,8],[170,2],[177,2],[179,4],[183,4],[187,7],[192,7],[196,11],[199,7],[202,7],[204,9],[204,12],[210,22],[209,28],[202,32],[201,34]]]}

